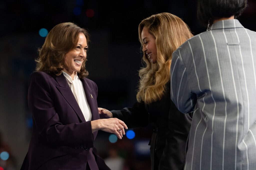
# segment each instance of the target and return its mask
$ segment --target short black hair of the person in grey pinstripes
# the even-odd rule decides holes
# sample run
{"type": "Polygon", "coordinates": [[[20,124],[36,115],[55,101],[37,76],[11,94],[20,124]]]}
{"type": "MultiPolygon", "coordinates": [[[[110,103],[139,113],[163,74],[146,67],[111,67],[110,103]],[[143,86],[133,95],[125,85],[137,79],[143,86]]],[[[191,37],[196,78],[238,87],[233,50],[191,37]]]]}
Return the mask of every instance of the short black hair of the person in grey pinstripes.
{"type": "Polygon", "coordinates": [[[197,17],[207,25],[210,19],[238,17],[247,6],[247,0],[198,0],[197,17]]]}

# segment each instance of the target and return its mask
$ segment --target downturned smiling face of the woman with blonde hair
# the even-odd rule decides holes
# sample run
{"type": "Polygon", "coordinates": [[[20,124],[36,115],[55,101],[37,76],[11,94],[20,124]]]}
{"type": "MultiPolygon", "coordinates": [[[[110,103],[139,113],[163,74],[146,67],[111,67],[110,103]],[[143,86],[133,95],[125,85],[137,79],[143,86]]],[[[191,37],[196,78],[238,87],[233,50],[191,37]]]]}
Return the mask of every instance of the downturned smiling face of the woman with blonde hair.
{"type": "Polygon", "coordinates": [[[147,27],[144,27],[141,32],[143,42],[143,52],[152,63],[157,62],[157,49],[155,38],[148,32],[147,27]]]}

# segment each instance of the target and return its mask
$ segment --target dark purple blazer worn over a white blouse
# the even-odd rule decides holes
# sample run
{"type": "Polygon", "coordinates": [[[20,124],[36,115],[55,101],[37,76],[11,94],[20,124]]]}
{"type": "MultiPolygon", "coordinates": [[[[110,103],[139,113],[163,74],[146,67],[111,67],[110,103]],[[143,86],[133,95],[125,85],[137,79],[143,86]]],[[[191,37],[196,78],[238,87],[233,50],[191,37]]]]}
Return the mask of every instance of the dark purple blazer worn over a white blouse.
{"type": "MultiPolygon", "coordinates": [[[[99,119],[97,85],[81,79],[92,120],[99,119]]],[[[109,169],[93,147],[97,132],[83,113],[63,74],[34,72],[29,79],[28,106],[33,129],[22,169],[109,169]]]]}

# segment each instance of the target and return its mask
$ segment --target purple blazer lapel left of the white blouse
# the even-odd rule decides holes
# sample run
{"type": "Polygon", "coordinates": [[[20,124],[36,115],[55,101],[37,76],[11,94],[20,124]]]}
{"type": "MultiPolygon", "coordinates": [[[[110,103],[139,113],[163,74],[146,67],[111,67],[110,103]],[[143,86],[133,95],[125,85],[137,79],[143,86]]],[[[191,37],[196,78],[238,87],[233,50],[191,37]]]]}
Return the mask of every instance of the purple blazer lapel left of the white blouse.
{"type": "Polygon", "coordinates": [[[79,117],[81,122],[86,122],[83,116],[83,113],[68,85],[68,82],[63,74],[56,76],[56,81],[58,82],[59,86],[56,86],[62,96],[66,99],[69,105],[74,109],[77,116],[79,117]]]}

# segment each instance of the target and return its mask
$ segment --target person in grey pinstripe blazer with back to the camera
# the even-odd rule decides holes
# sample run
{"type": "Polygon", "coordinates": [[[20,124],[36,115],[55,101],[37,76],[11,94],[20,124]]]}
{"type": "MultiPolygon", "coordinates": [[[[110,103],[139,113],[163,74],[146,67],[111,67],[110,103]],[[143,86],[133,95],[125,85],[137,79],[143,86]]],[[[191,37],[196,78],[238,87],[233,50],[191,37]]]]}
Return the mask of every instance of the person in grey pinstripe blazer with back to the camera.
{"type": "Polygon", "coordinates": [[[171,99],[194,113],[185,170],[256,169],[256,32],[234,19],[246,4],[199,0],[212,24],[173,53],[171,99]]]}

